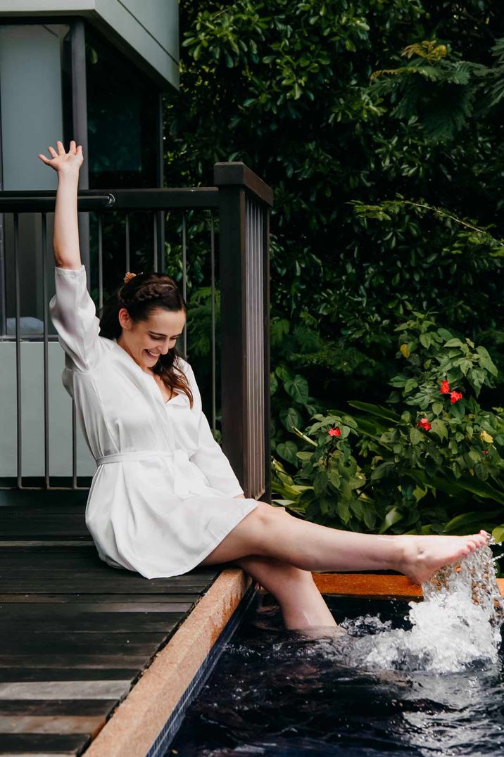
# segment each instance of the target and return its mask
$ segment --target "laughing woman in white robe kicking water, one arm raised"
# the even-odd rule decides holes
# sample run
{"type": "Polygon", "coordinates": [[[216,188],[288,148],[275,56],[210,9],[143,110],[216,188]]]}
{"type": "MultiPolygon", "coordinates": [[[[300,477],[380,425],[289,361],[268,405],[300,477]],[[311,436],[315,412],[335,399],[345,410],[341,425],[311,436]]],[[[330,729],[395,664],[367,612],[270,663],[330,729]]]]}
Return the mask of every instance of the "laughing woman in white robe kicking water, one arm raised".
{"type": "Polygon", "coordinates": [[[52,320],[98,468],[86,525],[109,565],[146,578],[232,562],[280,603],[286,628],[336,625],[311,571],[393,569],[415,583],[487,544],[465,537],[375,536],[325,528],[246,499],[202,413],[194,373],[175,343],[186,306],[162,274],[125,276],[102,322],[86,289],[77,231],[82,148],[61,142],[52,320]],[[102,329],[102,332],[100,331],[102,329]]]}

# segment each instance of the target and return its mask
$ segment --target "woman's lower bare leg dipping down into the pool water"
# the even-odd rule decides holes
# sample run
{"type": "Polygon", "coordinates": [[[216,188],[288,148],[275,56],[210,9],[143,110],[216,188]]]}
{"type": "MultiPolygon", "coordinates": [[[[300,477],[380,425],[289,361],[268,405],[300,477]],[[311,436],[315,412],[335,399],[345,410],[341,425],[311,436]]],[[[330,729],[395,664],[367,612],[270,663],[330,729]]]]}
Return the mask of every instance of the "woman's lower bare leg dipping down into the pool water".
{"type": "Polygon", "coordinates": [[[311,572],[295,568],[274,557],[255,555],[233,560],[233,564],[239,565],[273,594],[280,605],[286,628],[334,628],[337,625],[315,586],[311,572]]]}

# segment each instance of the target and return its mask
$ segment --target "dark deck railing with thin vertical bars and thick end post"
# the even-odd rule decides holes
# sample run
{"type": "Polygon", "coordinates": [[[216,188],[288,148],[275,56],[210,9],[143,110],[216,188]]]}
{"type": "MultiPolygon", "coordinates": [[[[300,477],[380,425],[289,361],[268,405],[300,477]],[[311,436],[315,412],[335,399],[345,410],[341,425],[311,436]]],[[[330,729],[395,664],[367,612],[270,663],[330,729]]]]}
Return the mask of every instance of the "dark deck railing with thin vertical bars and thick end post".
{"type": "MultiPolygon", "coordinates": [[[[114,213],[123,217],[124,270],[131,266],[130,223],[133,213],[152,215],[152,269],[164,272],[167,255],[165,220],[171,211],[182,214],[180,223],[180,251],[182,293],[186,299],[188,241],[187,215],[193,211],[208,213],[208,251],[211,271],[211,425],[216,420],[216,291],[221,302],[221,414],[222,447],[241,482],[246,496],[268,500],[270,497],[270,435],[269,435],[269,211],[271,189],[241,163],[216,164],[214,187],[167,189],[110,189],[104,192],[80,191],[80,213],[95,213],[97,238],[95,263],[83,254],[88,282],[98,281],[97,304],[104,301],[104,223],[114,213]],[[216,226],[218,225],[218,233],[216,226]],[[218,266],[218,279],[216,267],[218,266]],[[94,270],[96,268],[97,270],[94,270]]],[[[16,445],[17,475],[13,482],[0,488],[62,488],[53,486],[50,475],[50,419],[49,355],[49,294],[47,274],[49,263],[48,214],[54,212],[55,192],[0,192],[0,213],[12,216],[12,245],[0,248],[0,344],[15,342],[16,382],[16,445]],[[40,217],[42,250],[43,332],[22,335],[20,303],[19,214],[35,213],[40,217]],[[14,334],[6,327],[6,261],[14,269],[14,334]],[[43,351],[43,407],[44,407],[44,476],[39,485],[23,481],[23,399],[21,392],[21,344],[42,341],[43,351]]],[[[5,223],[2,223],[5,229],[5,223]]],[[[3,236],[0,241],[3,241],[3,236]]],[[[117,254],[117,253],[114,253],[117,254]]],[[[190,254],[189,254],[190,260],[190,254]]],[[[168,260],[169,262],[169,260],[168,260]]],[[[121,266],[122,267],[122,266],[121,266]]],[[[119,282],[115,281],[114,285],[119,282]]],[[[183,348],[187,351],[186,329],[183,348]]],[[[197,375],[197,370],[196,370],[197,375]]],[[[77,480],[77,413],[72,403],[72,475],[64,488],[81,487],[77,480]]],[[[3,482],[2,482],[3,483],[3,482]]]]}

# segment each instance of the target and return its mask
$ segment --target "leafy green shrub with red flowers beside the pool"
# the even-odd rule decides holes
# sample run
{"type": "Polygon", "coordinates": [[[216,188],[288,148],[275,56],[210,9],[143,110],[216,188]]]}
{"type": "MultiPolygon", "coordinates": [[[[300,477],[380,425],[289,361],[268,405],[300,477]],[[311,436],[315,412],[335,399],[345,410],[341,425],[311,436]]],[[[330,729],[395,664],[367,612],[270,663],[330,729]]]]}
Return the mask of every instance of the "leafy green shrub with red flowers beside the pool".
{"type": "Polygon", "coordinates": [[[283,455],[294,472],[275,461],[275,491],[287,507],[339,528],[496,528],[504,410],[484,409],[477,399],[495,386],[496,366],[485,347],[438,328],[432,314],[413,313],[396,331],[403,366],[385,405],[351,401],[354,416],[334,410],[315,415],[304,433],[294,428],[300,443],[291,441],[283,455]]]}

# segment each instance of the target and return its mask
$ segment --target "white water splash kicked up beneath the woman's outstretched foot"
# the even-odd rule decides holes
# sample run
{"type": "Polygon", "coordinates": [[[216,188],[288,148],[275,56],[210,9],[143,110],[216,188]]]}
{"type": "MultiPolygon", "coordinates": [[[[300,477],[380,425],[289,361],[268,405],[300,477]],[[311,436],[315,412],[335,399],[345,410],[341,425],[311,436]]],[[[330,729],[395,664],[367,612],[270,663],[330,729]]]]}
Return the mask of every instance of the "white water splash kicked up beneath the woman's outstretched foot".
{"type": "MultiPolygon", "coordinates": [[[[448,673],[498,659],[504,604],[490,547],[438,570],[422,584],[424,601],[410,602],[409,631],[380,628],[356,638],[348,662],[368,668],[448,673]]],[[[370,618],[359,618],[372,625],[370,618]]],[[[349,627],[352,635],[355,621],[349,627]]],[[[357,624],[358,626],[358,624],[357,624]]],[[[358,628],[355,628],[358,631],[358,628]]]]}

